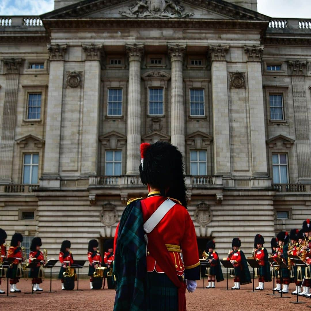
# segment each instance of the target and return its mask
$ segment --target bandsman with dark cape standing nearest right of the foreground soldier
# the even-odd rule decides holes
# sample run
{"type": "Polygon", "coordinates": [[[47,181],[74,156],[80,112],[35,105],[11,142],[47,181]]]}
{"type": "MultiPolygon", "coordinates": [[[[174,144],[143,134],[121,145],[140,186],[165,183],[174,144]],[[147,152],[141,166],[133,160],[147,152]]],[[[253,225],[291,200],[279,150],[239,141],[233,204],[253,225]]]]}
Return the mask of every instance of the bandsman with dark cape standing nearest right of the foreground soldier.
{"type": "Polygon", "coordinates": [[[205,251],[203,252],[203,259],[206,259],[211,265],[210,268],[206,268],[205,274],[208,276],[208,285],[206,288],[215,288],[216,280],[217,282],[224,281],[218,253],[215,252],[215,247],[215,241],[209,240],[206,244],[205,251]]]}

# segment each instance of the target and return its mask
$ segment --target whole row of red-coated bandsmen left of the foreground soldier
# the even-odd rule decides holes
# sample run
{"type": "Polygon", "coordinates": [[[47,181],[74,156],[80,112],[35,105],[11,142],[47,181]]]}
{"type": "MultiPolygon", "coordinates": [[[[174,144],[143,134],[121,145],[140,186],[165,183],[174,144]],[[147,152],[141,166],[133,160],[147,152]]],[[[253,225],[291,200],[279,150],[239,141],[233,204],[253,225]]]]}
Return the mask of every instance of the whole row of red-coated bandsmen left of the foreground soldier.
{"type": "MultiPolygon", "coordinates": [[[[20,233],[15,233],[12,236],[11,246],[7,252],[5,241],[7,239],[6,232],[0,228],[0,247],[1,247],[1,260],[0,267],[2,268],[2,262],[5,261],[6,258],[14,258],[14,261],[7,269],[7,277],[10,279],[10,292],[11,293],[20,293],[16,287],[16,284],[19,282],[20,277],[23,275],[23,270],[21,267],[21,262],[26,261],[26,254],[22,252],[21,243],[23,242],[23,236],[20,233]]],[[[39,237],[35,237],[31,241],[30,245],[30,253],[29,253],[29,263],[32,262],[33,259],[38,259],[38,265],[36,268],[30,269],[30,277],[32,278],[31,282],[33,284],[34,291],[42,291],[39,284],[42,283],[42,278],[44,277],[43,266],[45,265],[44,255],[40,251],[40,247],[42,246],[41,239],[39,237]]],[[[72,253],[69,251],[71,247],[71,243],[68,240],[63,241],[62,246],[59,252],[59,261],[61,262],[61,268],[58,275],[58,278],[61,279],[62,282],[62,290],[64,290],[64,276],[63,272],[66,271],[66,267],[70,267],[73,263],[72,253]]],[[[93,289],[93,275],[96,267],[101,267],[102,265],[107,268],[112,268],[114,254],[113,254],[113,240],[106,241],[104,248],[104,260],[100,256],[100,252],[97,249],[98,241],[90,240],[88,245],[88,253],[87,257],[89,260],[89,272],[90,276],[90,288],[93,289]]],[[[2,270],[0,270],[2,272],[2,270]]],[[[1,285],[1,276],[0,275],[0,285],[1,285]]],[[[4,291],[0,289],[0,294],[4,294],[4,291]]]]}

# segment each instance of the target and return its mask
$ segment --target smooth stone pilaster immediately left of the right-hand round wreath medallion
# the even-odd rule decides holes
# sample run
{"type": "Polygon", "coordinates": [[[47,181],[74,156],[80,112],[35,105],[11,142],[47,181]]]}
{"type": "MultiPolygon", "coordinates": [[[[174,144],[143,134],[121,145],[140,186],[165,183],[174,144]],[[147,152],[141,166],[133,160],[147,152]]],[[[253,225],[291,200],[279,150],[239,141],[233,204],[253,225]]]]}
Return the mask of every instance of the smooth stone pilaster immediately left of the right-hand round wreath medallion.
{"type": "Polygon", "coordinates": [[[229,176],[230,132],[226,54],[229,46],[209,46],[211,54],[213,134],[214,134],[214,174],[229,176]]]}

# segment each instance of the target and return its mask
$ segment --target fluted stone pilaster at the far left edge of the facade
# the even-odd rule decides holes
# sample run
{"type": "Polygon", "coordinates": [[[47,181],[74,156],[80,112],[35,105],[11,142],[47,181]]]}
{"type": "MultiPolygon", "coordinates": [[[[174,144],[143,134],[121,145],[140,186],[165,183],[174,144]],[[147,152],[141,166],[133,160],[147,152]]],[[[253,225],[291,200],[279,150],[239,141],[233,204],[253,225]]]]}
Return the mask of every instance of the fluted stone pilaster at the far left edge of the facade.
{"type": "Polygon", "coordinates": [[[19,67],[22,60],[16,58],[4,59],[3,63],[6,70],[6,82],[0,141],[0,184],[12,182],[19,67]]]}

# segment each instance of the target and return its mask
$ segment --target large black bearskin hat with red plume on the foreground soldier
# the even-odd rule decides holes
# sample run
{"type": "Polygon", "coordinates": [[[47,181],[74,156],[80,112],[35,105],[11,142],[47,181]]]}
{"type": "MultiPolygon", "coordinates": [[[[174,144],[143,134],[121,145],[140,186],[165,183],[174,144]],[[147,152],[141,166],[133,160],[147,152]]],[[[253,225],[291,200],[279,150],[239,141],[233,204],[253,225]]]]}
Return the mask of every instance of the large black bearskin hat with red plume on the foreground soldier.
{"type": "Polygon", "coordinates": [[[187,208],[183,156],[177,147],[168,142],[143,143],[140,151],[142,183],[158,188],[161,195],[177,199],[187,208]]]}

